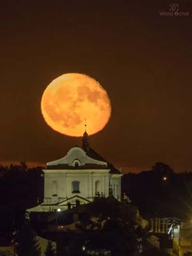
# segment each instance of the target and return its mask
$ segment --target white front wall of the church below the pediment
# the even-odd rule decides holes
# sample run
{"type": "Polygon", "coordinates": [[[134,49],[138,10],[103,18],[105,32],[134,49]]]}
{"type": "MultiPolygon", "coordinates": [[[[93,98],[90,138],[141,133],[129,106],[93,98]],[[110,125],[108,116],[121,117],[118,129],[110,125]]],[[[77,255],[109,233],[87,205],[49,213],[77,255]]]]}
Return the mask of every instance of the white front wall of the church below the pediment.
{"type": "Polygon", "coordinates": [[[72,171],[66,171],[66,173],[61,174],[63,170],[54,170],[52,172],[46,173],[45,170],[45,184],[44,184],[44,203],[48,204],[51,198],[51,204],[64,201],[67,197],[71,198],[74,195],[79,195],[88,200],[96,196],[96,181],[99,181],[99,193],[103,193],[106,197],[108,196],[109,190],[109,173],[98,170],[92,173],[78,171],[74,173],[72,171]],[[80,193],[72,193],[72,182],[80,182],[80,193]],[[57,196],[53,196],[53,182],[57,182],[57,196]]]}

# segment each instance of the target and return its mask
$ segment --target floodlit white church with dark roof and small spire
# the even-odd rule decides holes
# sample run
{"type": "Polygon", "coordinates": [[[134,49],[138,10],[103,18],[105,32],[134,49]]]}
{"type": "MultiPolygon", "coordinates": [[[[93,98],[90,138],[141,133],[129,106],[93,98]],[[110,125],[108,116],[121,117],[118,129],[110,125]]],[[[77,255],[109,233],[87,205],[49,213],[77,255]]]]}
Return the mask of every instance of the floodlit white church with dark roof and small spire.
{"type": "Polygon", "coordinates": [[[93,202],[96,196],[112,194],[121,200],[123,173],[99,156],[89,146],[89,136],[84,132],[82,148],[72,147],[67,155],[47,163],[44,171],[44,202],[27,212],[66,210],[93,202]]]}

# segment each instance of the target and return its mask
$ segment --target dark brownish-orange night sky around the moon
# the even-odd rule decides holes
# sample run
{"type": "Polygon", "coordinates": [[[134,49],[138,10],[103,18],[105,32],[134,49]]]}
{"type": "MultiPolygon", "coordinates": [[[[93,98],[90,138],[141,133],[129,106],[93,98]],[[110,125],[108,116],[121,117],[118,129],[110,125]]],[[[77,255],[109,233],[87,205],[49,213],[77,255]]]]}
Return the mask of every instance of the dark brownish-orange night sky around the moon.
{"type": "Polygon", "coordinates": [[[112,104],[90,137],[101,156],[124,171],[192,169],[192,2],[177,3],[189,16],[160,16],[160,0],[1,0],[0,161],[44,164],[81,145],[46,124],[40,101],[59,75],[85,73],[112,104]]]}

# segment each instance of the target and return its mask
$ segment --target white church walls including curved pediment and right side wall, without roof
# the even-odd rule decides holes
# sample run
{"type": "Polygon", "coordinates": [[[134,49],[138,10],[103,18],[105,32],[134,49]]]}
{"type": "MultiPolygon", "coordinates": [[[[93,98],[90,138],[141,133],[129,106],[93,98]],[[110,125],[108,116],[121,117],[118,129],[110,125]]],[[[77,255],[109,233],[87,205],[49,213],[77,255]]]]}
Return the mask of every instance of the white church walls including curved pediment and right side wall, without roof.
{"type": "MultiPolygon", "coordinates": [[[[79,195],[85,199],[92,200],[96,196],[96,181],[99,181],[99,190],[101,195],[108,197],[109,193],[109,179],[110,185],[113,190],[113,195],[118,199],[120,197],[120,176],[123,174],[109,174],[109,169],[106,170],[108,163],[98,161],[90,158],[86,155],[84,150],[79,147],[73,147],[69,150],[67,155],[58,160],[47,163],[47,166],[55,166],[59,164],[68,164],[68,166],[74,166],[75,162],[78,162],[80,166],[84,166],[86,163],[94,164],[95,166],[103,166],[101,170],[50,170],[46,169],[45,172],[45,186],[44,186],[44,203],[55,204],[62,202],[67,198],[71,198],[74,195],[79,195]],[[57,196],[53,196],[53,182],[57,182],[57,196]],[[80,193],[72,193],[72,182],[80,182],[80,193]]],[[[102,167],[101,167],[102,168],[102,167]]]]}

